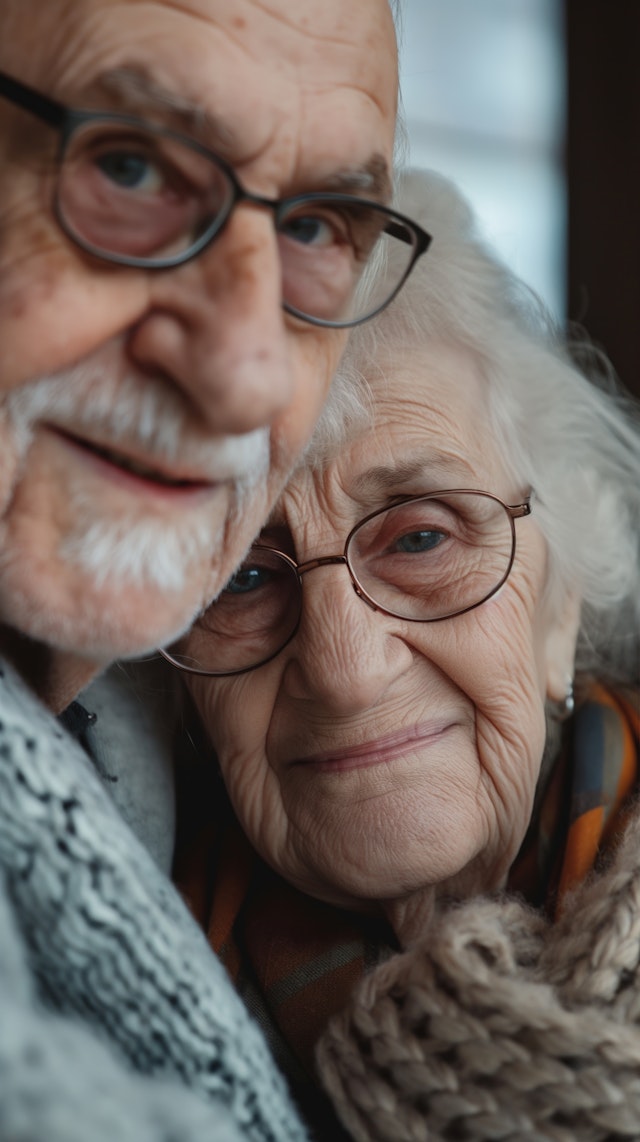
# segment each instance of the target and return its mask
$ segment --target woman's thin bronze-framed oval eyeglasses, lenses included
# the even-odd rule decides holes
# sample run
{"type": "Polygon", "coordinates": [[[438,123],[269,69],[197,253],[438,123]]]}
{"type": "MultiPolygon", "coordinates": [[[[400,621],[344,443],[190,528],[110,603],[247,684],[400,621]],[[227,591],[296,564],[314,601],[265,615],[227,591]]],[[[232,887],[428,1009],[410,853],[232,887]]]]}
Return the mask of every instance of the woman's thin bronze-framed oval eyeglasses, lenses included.
{"type": "Polygon", "coordinates": [[[374,611],[409,622],[453,619],[491,598],[515,558],[514,521],[531,497],[504,504],[469,489],[414,496],[371,512],[351,529],[341,555],[305,563],[257,542],[218,598],[183,638],[161,651],[189,674],[243,674],[285,649],[299,625],[302,577],[344,563],[355,594],[374,611]]]}

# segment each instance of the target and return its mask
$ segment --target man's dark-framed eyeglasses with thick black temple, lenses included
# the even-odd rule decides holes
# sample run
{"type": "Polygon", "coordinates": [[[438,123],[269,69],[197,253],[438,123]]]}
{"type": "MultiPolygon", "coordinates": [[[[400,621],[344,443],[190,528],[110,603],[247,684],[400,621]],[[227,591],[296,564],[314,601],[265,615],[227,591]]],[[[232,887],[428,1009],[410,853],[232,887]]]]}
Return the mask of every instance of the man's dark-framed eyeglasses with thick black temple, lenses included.
{"type": "Polygon", "coordinates": [[[0,96],[59,131],[57,220],[106,262],[182,265],[222,233],[239,202],[250,202],[273,212],[285,309],[342,328],[389,305],[430,244],[410,218],[368,199],[251,194],[213,151],[154,123],[72,110],[3,73],[0,96]]]}

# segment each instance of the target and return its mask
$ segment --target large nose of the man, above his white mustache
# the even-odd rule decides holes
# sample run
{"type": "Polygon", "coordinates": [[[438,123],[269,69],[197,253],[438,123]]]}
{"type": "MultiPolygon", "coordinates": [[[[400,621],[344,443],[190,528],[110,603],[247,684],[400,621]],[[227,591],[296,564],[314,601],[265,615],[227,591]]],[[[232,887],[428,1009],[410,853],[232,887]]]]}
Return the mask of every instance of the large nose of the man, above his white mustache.
{"type": "Polygon", "coordinates": [[[273,219],[241,206],[199,258],[152,278],[129,352],[179,385],[216,433],[240,434],[290,404],[291,340],[273,219]]]}

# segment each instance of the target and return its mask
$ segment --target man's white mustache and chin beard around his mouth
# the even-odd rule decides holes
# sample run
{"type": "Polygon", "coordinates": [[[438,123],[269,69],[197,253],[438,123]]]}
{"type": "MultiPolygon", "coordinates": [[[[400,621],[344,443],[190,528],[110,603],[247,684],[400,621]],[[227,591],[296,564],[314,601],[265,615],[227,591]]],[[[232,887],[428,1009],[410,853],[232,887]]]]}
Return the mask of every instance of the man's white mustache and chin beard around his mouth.
{"type": "MultiPolygon", "coordinates": [[[[190,568],[211,562],[238,520],[247,498],[266,482],[270,466],[269,429],[241,436],[214,437],[211,429],[187,410],[186,400],[170,383],[135,375],[114,380],[99,360],[80,363],[64,373],[43,378],[9,393],[3,401],[9,435],[17,452],[15,480],[29,464],[34,428],[47,423],[109,447],[138,449],[150,458],[173,463],[202,480],[229,482],[231,512],[219,520],[219,504],[205,499],[189,506],[173,526],[166,520],[143,516],[134,500],[120,517],[97,517],[90,492],[75,485],[71,492],[73,529],[61,539],[58,554],[70,568],[91,577],[97,588],[155,587],[181,592],[190,568]]],[[[152,461],[151,461],[152,463],[152,461]]],[[[262,493],[261,493],[262,494],[262,493]]],[[[216,498],[214,497],[214,500],[216,498]]],[[[267,505],[265,502],[265,512],[267,505]]],[[[2,546],[0,525],[0,550],[2,546]]],[[[248,537],[247,542],[250,541],[248,537]]],[[[235,553],[234,553],[235,554],[235,553]]],[[[238,561],[242,550],[237,553],[238,561]]],[[[229,569],[229,573],[233,566],[229,569]]],[[[219,584],[222,589],[224,584],[219,584]]]]}

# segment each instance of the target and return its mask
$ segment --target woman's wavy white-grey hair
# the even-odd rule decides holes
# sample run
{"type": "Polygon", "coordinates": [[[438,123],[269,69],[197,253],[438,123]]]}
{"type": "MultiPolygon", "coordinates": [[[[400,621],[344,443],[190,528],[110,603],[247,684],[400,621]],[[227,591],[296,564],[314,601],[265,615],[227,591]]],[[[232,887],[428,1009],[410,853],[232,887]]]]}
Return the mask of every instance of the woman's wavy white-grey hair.
{"type": "MultiPolygon", "coordinates": [[[[582,597],[576,670],[640,676],[640,404],[586,340],[569,341],[533,292],[483,244],[447,179],[401,177],[397,207],[433,242],[392,305],[353,330],[307,463],[370,428],[379,361],[438,339],[470,349],[487,384],[494,445],[535,493],[547,592],[582,597]]],[[[382,271],[384,272],[384,270],[382,271]]],[[[389,368],[389,365],[386,365],[389,368]]]]}

